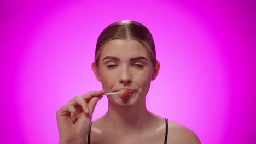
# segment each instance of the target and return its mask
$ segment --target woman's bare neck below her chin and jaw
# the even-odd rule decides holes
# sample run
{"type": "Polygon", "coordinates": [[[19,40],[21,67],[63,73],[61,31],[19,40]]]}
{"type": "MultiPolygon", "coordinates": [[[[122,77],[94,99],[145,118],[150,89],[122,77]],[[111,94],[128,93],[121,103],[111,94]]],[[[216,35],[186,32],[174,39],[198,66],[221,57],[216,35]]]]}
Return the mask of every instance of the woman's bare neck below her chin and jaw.
{"type": "Polygon", "coordinates": [[[147,110],[145,98],[132,106],[118,106],[109,103],[106,118],[116,131],[138,131],[143,129],[152,116],[147,110]]]}

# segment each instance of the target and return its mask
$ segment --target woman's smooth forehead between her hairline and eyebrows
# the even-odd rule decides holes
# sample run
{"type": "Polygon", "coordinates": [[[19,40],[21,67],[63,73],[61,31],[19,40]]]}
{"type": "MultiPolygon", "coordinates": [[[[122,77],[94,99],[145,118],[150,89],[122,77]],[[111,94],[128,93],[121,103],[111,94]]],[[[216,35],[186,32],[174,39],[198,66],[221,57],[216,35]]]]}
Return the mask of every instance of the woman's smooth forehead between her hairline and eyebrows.
{"type": "Polygon", "coordinates": [[[149,52],[144,45],[137,40],[114,39],[103,47],[100,59],[105,56],[115,56],[119,58],[131,58],[144,56],[149,58],[149,52]]]}

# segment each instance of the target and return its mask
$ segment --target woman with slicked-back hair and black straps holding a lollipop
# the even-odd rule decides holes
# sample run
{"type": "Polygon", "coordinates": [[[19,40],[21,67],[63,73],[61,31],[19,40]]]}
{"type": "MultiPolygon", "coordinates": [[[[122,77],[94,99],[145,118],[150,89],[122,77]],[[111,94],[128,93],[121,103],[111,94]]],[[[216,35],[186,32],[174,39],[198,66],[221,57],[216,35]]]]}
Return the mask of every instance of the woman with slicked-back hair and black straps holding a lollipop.
{"type": "Polygon", "coordinates": [[[149,30],[141,23],[112,23],[98,37],[92,70],[103,90],[74,97],[57,111],[60,143],[200,143],[193,131],[149,112],[145,97],[160,63],[149,30]],[[105,93],[105,115],[91,122],[105,93]]]}

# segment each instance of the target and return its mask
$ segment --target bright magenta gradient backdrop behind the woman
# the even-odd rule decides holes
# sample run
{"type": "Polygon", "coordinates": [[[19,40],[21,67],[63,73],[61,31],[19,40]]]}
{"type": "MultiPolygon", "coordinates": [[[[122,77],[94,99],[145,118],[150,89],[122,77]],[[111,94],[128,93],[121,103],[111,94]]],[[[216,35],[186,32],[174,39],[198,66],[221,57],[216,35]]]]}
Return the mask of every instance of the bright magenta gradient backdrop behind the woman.
{"type": "MultiPolygon", "coordinates": [[[[159,76],[148,109],[202,143],[255,143],[253,1],[1,1],[1,143],[57,143],[56,111],[101,89],[96,40],[112,22],[152,32],[159,76]]],[[[103,115],[107,98],[94,117],[103,115]]]]}

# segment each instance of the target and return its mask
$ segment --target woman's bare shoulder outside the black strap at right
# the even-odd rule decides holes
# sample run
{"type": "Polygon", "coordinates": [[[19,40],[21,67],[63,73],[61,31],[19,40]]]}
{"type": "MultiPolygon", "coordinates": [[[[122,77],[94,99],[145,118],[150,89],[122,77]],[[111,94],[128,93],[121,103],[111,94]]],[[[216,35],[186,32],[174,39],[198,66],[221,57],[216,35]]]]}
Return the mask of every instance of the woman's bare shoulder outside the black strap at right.
{"type": "Polygon", "coordinates": [[[200,144],[200,140],[194,131],[181,124],[168,121],[167,143],[195,143],[200,144]]]}

